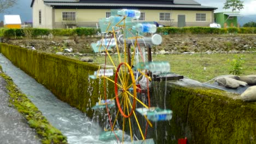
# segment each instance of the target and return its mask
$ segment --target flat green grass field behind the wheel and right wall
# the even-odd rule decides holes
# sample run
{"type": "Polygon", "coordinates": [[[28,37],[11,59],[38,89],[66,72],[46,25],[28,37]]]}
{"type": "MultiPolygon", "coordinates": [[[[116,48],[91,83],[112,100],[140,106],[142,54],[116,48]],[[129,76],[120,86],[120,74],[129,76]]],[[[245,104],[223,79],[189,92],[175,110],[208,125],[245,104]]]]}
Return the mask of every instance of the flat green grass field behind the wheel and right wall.
{"type": "MultiPolygon", "coordinates": [[[[243,55],[245,63],[242,64],[241,75],[256,75],[256,53],[241,54],[193,54],[193,55],[153,55],[153,61],[168,61],[171,72],[189,77],[200,82],[206,82],[216,76],[228,75],[231,64],[228,59],[235,55],[243,55]],[[205,68],[205,69],[204,69],[205,68]]],[[[104,64],[104,56],[97,57],[96,63],[104,64]]],[[[117,59],[117,56],[113,56],[117,59]]],[[[117,62],[117,60],[115,60],[117,62]]],[[[110,64],[109,62],[107,64],[110,64]]]]}

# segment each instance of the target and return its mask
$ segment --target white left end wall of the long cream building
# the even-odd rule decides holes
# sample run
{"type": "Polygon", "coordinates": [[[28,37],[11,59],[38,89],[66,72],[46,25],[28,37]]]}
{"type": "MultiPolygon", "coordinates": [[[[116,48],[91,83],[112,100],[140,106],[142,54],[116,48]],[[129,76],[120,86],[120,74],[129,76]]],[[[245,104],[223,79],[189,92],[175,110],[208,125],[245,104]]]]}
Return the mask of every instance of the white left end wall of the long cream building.
{"type": "Polygon", "coordinates": [[[53,28],[53,9],[44,4],[43,0],[34,0],[33,3],[33,27],[53,28]],[[41,10],[41,24],[39,24],[39,10],[41,10]]]}

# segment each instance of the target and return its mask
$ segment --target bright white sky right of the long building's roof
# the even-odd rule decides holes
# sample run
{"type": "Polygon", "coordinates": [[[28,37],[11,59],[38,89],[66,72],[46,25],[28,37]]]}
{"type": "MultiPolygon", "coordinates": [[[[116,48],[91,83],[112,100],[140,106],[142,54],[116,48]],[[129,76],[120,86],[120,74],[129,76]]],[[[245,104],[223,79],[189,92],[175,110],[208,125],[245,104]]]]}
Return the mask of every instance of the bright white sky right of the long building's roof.
{"type": "MultiPolygon", "coordinates": [[[[223,9],[225,0],[214,0],[214,1],[207,1],[207,0],[195,0],[198,3],[201,3],[201,5],[210,6],[210,7],[216,7],[218,8],[214,12],[228,12],[232,11],[231,9],[225,10],[223,9]]],[[[256,0],[240,0],[243,2],[243,9],[240,10],[241,15],[256,15],[256,0]]]]}

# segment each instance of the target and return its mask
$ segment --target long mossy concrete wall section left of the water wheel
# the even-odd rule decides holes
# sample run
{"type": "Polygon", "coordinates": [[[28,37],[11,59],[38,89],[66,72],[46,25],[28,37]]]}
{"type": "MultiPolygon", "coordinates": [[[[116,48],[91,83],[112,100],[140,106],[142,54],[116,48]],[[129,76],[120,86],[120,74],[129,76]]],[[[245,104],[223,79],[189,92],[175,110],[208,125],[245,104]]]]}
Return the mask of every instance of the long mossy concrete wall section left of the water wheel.
{"type": "Polygon", "coordinates": [[[103,82],[89,79],[98,66],[14,45],[1,44],[0,47],[5,57],[57,98],[92,116],[89,108],[96,104],[99,95],[103,97],[103,82]]]}

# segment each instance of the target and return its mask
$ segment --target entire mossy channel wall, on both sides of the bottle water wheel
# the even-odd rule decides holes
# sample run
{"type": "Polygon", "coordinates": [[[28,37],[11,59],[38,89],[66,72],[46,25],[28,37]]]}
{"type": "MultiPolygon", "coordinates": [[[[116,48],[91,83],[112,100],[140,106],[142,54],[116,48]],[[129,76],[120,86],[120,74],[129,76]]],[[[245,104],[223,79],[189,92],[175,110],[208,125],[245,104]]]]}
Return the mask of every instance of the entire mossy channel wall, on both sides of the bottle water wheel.
{"type": "MultiPolygon", "coordinates": [[[[88,79],[97,66],[54,54],[0,44],[17,67],[50,89],[56,97],[92,116],[90,107],[103,95],[101,80],[88,79]]],[[[108,85],[111,93],[112,86],[108,85]]],[[[171,109],[171,121],[153,123],[148,137],[156,143],[256,143],[256,103],[246,103],[216,89],[180,87],[155,82],[152,106],[171,109]]]]}

